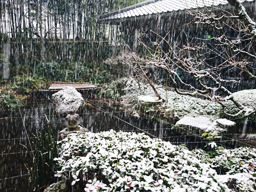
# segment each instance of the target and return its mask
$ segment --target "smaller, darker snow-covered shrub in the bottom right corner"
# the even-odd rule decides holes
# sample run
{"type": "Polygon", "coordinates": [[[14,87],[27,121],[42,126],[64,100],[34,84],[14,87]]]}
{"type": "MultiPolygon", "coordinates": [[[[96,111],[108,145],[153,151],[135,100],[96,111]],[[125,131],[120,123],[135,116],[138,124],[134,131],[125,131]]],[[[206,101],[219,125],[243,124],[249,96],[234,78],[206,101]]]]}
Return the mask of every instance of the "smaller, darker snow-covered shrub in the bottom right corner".
{"type": "MultiPolygon", "coordinates": [[[[232,182],[235,180],[235,191],[256,190],[256,150],[240,147],[235,149],[216,150],[218,154],[211,158],[204,150],[193,150],[202,163],[209,163],[216,170],[217,180],[232,182]]],[[[227,190],[226,190],[227,191],[227,190]]]]}

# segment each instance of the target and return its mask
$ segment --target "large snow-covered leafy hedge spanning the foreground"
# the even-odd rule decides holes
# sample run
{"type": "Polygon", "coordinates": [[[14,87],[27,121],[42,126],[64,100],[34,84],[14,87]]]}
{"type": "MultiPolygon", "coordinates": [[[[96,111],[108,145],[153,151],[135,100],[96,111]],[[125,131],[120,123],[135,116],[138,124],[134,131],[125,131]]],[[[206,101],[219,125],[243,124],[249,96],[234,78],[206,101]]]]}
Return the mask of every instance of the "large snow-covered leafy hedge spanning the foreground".
{"type": "Polygon", "coordinates": [[[59,171],[84,191],[255,191],[256,153],[250,148],[203,150],[151,139],[134,132],[70,134],[60,141],[59,171]],[[81,179],[81,180],[80,180],[81,179]]]}

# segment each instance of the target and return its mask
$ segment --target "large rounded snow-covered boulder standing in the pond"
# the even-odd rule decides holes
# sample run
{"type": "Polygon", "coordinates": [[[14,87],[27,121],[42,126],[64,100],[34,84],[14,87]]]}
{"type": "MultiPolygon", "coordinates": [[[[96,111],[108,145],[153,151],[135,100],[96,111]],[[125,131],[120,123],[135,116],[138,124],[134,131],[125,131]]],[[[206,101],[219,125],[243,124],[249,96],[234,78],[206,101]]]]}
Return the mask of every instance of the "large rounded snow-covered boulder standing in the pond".
{"type": "Polygon", "coordinates": [[[56,113],[76,113],[85,105],[81,93],[76,88],[66,86],[63,90],[52,95],[54,104],[56,105],[56,113]]]}

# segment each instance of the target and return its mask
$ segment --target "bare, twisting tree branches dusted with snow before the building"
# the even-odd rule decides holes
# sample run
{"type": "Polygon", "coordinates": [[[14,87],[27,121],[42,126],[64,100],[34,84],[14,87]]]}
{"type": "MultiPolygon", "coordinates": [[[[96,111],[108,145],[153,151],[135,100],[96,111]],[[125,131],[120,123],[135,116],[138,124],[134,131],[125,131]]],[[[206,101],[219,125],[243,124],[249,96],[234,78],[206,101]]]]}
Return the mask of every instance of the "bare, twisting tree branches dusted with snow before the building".
{"type": "MultiPolygon", "coordinates": [[[[181,95],[189,95],[192,97],[200,95],[205,99],[219,102],[223,107],[223,113],[228,116],[237,116],[241,114],[250,116],[254,114],[256,108],[244,106],[242,102],[236,100],[234,95],[232,95],[232,92],[225,87],[225,83],[239,83],[240,81],[223,79],[220,73],[221,70],[225,68],[237,68],[241,70],[241,73],[245,72],[253,79],[256,79],[256,76],[248,69],[248,66],[252,65],[252,61],[256,60],[255,52],[252,53],[248,51],[248,45],[253,47],[255,46],[254,42],[252,41],[249,44],[244,45],[244,42],[246,43],[250,39],[254,40],[255,36],[253,36],[253,30],[255,29],[255,23],[250,20],[244,7],[240,5],[241,3],[239,3],[239,6],[237,7],[239,7],[243,13],[239,12],[238,16],[232,15],[227,11],[214,14],[212,9],[209,8],[205,8],[205,12],[201,12],[199,9],[191,10],[189,12],[189,14],[194,16],[195,23],[206,24],[217,31],[220,31],[220,36],[209,39],[211,42],[216,42],[215,44],[203,43],[202,45],[195,45],[193,44],[193,40],[189,42],[188,36],[186,36],[185,33],[184,36],[186,36],[186,42],[182,45],[175,45],[166,40],[166,36],[169,35],[169,33],[164,37],[155,33],[157,38],[161,39],[159,40],[159,44],[155,47],[156,50],[151,52],[152,48],[148,47],[144,42],[141,42],[151,54],[149,58],[141,58],[141,60],[148,65],[162,68],[166,72],[168,79],[172,81],[175,92],[181,95]],[[223,20],[229,21],[224,22],[223,20]],[[230,27],[228,23],[234,25],[234,27],[230,27]],[[240,35],[237,35],[237,38],[226,36],[225,31],[223,31],[223,25],[234,29],[234,31],[240,35]],[[251,35],[250,38],[248,38],[248,30],[250,32],[249,35],[251,35]],[[169,46],[168,52],[164,52],[162,49],[161,44],[163,43],[166,43],[169,46]],[[214,52],[217,55],[216,57],[224,60],[223,63],[219,63],[217,66],[209,65],[207,63],[207,61],[209,61],[209,59],[207,59],[207,54],[209,54],[209,52],[214,52]],[[237,60],[237,58],[243,58],[243,60],[237,60]],[[200,88],[196,88],[191,82],[184,81],[178,72],[179,70],[188,74],[190,77],[193,77],[200,88]],[[209,86],[209,83],[207,84],[205,79],[211,81],[211,84],[213,84],[214,87],[209,86]],[[191,92],[180,91],[178,82],[179,84],[186,86],[191,92]],[[213,92],[221,92],[224,95],[212,95],[213,92]],[[236,114],[229,114],[228,111],[225,110],[225,102],[228,100],[232,101],[237,109],[239,109],[236,114]]],[[[204,40],[204,42],[207,42],[207,40],[204,40]]]]}

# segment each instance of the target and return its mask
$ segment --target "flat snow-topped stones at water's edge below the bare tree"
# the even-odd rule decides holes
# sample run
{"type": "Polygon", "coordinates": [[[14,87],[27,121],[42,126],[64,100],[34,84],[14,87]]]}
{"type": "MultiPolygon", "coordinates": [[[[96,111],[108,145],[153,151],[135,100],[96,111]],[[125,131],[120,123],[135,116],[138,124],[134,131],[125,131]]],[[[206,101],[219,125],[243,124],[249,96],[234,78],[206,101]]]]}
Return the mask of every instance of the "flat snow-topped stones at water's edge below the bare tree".
{"type": "Polygon", "coordinates": [[[199,132],[224,132],[225,128],[234,126],[236,123],[227,119],[217,119],[213,121],[214,116],[184,116],[176,125],[194,127],[199,132]]]}

